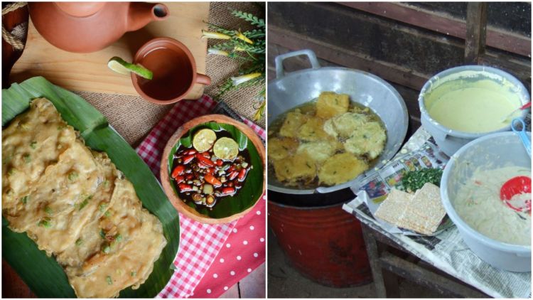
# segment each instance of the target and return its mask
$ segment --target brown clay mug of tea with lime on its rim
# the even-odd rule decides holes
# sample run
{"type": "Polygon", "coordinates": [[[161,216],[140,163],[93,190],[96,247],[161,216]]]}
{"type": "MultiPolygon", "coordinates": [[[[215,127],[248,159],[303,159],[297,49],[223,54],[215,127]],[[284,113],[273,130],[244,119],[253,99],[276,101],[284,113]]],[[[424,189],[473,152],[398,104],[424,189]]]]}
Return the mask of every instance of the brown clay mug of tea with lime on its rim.
{"type": "Polygon", "coordinates": [[[134,63],[154,73],[151,80],[131,73],[135,90],[152,103],[176,103],[188,95],[196,83],[211,83],[210,77],[196,72],[196,63],[190,50],[173,38],[148,41],[137,50],[134,63]]]}

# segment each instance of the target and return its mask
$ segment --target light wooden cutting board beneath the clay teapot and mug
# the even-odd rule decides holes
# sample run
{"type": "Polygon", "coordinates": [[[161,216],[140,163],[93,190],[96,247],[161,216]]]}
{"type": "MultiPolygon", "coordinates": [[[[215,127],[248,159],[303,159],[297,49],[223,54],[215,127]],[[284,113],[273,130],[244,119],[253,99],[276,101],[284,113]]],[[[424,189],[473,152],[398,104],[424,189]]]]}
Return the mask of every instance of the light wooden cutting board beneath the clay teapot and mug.
{"type": "MultiPolygon", "coordinates": [[[[125,33],[119,41],[94,53],[70,53],[55,48],[45,41],[30,21],[26,48],[11,70],[10,82],[43,76],[68,90],[138,95],[131,77],[109,70],[107,60],[119,56],[131,61],[141,45],[151,38],[164,36],[184,43],[194,55],[198,73],[205,74],[208,42],[201,36],[202,29],[207,28],[203,21],[208,21],[209,3],[165,4],[170,12],[166,20],[154,21],[139,31],[125,33]]],[[[195,85],[185,99],[198,99],[203,94],[203,89],[203,85],[195,85]]]]}

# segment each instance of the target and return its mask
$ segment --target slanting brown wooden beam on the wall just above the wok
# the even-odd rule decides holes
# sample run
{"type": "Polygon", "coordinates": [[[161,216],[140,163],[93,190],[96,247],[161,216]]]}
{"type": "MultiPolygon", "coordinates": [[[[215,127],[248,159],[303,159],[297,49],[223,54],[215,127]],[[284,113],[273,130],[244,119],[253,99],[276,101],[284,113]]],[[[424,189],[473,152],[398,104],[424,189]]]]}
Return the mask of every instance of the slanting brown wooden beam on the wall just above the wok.
{"type": "Polygon", "coordinates": [[[364,70],[399,85],[421,90],[421,87],[431,77],[400,65],[387,63],[370,58],[352,50],[346,50],[323,41],[318,41],[299,33],[294,33],[277,26],[269,25],[269,44],[283,45],[290,50],[311,49],[319,58],[348,68],[364,70]]]}

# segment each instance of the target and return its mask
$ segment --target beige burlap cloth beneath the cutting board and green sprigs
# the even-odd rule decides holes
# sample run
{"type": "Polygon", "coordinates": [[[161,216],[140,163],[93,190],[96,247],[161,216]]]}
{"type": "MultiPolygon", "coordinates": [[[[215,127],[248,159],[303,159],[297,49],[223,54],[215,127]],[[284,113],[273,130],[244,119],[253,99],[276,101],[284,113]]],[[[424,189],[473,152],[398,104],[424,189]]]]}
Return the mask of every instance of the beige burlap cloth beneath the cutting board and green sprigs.
{"type": "MultiPolygon", "coordinates": [[[[264,6],[262,7],[264,8],[264,6]]],[[[249,24],[232,16],[230,9],[247,11],[264,18],[264,10],[257,4],[249,2],[212,2],[209,13],[210,23],[227,28],[241,28],[242,31],[249,29],[249,24]]],[[[208,55],[206,65],[206,74],[211,77],[212,84],[205,88],[204,93],[211,97],[217,95],[217,86],[224,82],[228,76],[234,75],[239,66],[230,58],[220,55],[208,55]]],[[[257,102],[253,98],[260,90],[261,87],[248,87],[238,91],[227,92],[222,100],[238,114],[252,119],[255,113],[252,105],[257,102]]],[[[117,129],[117,132],[132,146],[137,146],[172,107],[172,105],[154,105],[141,97],[94,92],[76,93],[102,112],[107,117],[109,124],[114,129],[117,129]]],[[[257,124],[264,128],[264,117],[257,124]]]]}

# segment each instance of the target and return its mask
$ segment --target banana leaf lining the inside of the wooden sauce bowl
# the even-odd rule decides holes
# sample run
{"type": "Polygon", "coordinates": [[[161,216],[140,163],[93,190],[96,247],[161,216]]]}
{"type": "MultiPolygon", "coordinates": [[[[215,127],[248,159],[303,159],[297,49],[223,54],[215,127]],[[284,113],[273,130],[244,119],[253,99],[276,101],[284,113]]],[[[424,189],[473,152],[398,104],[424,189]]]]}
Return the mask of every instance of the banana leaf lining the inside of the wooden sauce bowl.
{"type": "MultiPolygon", "coordinates": [[[[232,139],[237,141],[237,144],[239,145],[239,151],[248,151],[250,156],[249,163],[253,166],[253,168],[248,171],[244,185],[236,195],[218,199],[215,206],[213,206],[211,209],[205,207],[204,205],[198,205],[193,201],[187,201],[186,204],[194,208],[196,211],[198,211],[198,213],[207,215],[210,218],[218,219],[230,217],[231,215],[241,213],[242,211],[252,207],[263,193],[263,164],[261,157],[259,156],[254,143],[249,141],[248,136],[240,132],[237,127],[234,127],[231,124],[222,124],[217,122],[207,122],[193,127],[187,134],[178,140],[176,145],[172,147],[170,153],[168,154],[168,173],[172,173],[173,155],[176,153],[178,148],[181,145],[185,146],[185,148],[189,148],[192,144],[194,134],[200,129],[204,128],[212,129],[215,132],[220,131],[220,129],[228,132],[232,139]]],[[[171,186],[174,192],[178,194],[178,191],[176,191],[176,186],[173,183],[171,183],[171,186]]]]}

